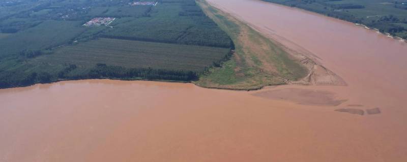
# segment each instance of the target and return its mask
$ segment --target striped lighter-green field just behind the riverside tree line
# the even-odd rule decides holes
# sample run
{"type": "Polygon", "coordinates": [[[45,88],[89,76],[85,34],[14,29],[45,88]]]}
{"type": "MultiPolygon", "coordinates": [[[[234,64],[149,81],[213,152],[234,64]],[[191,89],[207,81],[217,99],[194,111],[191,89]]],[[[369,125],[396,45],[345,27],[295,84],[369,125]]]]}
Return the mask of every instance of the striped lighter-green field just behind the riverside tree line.
{"type": "Polygon", "coordinates": [[[100,38],[56,49],[33,59],[32,64],[75,64],[92,68],[97,63],[126,68],[154,68],[202,72],[228,53],[227,48],[188,46],[100,38]]]}

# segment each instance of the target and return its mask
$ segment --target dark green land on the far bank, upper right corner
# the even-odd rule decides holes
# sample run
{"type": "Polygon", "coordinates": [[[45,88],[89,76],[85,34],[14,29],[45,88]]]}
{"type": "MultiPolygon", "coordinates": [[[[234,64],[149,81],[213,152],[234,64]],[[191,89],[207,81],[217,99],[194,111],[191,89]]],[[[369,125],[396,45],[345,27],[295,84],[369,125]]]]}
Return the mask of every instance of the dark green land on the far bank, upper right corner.
{"type": "Polygon", "coordinates": [[[362,23],[407,39],[405,0],[263,0],[362,23]]]}

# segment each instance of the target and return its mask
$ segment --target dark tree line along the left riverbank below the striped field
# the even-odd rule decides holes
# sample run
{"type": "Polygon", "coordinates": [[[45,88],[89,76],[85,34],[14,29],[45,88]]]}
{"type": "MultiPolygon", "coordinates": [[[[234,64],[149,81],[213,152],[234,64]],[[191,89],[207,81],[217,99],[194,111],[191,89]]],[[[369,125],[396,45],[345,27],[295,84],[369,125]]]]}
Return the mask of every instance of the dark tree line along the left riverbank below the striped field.
{"type": "Polygon", "coordinates": [[[124,68],[109,66],[103,63],[84,73],[73,72],[77,68],[72,64],[53,75],[49,72],[32,72],[28,74],[0,71],[0,88],[30,86],[36,83],[50,83],[58,79],[91,79],[91,78],[120,78],[120,79],[148,79],[148,80],[177,80],[189,82],[197,79],[196,72],[182,70],[166,70],[153,68],[124,68]],[[70,74],[70,73],[73,74],[70,74]]]}

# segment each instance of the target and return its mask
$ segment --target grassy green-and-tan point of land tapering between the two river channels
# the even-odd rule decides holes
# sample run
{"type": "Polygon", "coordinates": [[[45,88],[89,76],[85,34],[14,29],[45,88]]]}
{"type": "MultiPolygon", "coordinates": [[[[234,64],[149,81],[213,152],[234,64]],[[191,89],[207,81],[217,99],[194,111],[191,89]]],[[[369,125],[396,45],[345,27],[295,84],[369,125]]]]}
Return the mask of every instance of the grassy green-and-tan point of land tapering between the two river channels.
{"type": "Polygon", "coordinates": [[[200,75],[196,85],[208,88],[252,90],[268,85],[285,84],[284,79],[297,80],[307,74],[298,60],[245,23],[197,1],[235,43],[236,51],[221,67],[213,67],[200,75]]]}

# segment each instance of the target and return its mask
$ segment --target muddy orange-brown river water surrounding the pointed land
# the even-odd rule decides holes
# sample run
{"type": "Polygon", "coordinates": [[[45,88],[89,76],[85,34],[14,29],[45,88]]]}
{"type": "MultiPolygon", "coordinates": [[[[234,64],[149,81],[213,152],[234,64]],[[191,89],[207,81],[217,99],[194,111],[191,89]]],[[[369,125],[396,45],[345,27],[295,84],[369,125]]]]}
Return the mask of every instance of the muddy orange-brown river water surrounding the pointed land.
{"type": "Polygon", "coordinates": [[[0,90],[0,161],[407,160],[407,44],[294,8],[208,1],[319,58],[347,86],[78,80],[0,90]]]}

